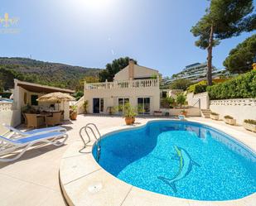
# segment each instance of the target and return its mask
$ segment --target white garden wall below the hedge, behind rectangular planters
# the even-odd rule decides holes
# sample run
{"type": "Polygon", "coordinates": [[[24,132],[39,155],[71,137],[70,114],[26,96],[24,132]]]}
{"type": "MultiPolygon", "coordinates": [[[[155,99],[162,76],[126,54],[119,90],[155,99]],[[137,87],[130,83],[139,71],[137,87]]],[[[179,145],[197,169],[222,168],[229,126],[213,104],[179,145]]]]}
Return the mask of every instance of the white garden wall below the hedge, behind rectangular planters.
{"type": "Polygon", "coordinates": [[[256,99],[255,98],[236,98],[211,100],[210,110],[219,113],[223,119],[225,115],[232,116],[237,123],[242,125],[244,119],[256,119],[256,99]]]}

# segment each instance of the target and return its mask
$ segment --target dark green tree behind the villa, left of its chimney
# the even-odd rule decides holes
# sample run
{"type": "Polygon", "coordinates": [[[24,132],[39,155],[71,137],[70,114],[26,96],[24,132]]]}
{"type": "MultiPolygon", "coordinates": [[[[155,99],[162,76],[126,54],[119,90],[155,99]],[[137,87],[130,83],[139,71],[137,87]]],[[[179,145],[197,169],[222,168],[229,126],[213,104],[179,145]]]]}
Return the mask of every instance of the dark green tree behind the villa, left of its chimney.
{"type": "MultiPolygon", "coordinates": [[[[108,81],[113,81],[114,74],[117,74],[118,71],[123,69],[129,64],[130,58],[121,57],[117,60],[113,60],[112,63],[106,65],[106,68],[99,72],[99,81],[104,82],[106,79],[108,81]]],[[[135,64],[137,65],[137,61],[134,60],[135,64]]]]}

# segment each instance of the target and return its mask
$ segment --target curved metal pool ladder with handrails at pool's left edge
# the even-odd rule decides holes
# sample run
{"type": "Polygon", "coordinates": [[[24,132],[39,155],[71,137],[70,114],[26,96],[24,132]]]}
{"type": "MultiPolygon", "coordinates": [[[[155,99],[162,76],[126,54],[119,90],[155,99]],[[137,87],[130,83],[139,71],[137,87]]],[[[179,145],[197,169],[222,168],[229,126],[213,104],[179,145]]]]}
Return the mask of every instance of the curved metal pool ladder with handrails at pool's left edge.
{"type": "Polygon", "coordinates": [[[95,142],[95,146],[96,146],[96,150],[97,150],[96,151],[97,152],[96,153],[96,160],[98,162],[99,161],[99,157],[100,157],[100,150],[101,150],[101,146],[100,146],[101,135],[100,135],[98,127],[94,123],[88,123],[88,124],[85,125],[85,127],[81,127],[80,128],[80,138],[84,142],[84,147],[81,150],[85,149],[86,146],[92,146],[92,145],[89,145],[89,142],[91,141],[91,137],[89,136],[88,130],[91,132],[91,134],[94,136],[94,139],[96,140],[96,142],[95,142]],[[88,141],[87,142],[85,141],[85,139],[84,139],[84,137],[82,135],[83,130],[85,130],[85,134],[88,137],[88,141]],[[98,137],[97,137],[95,132],[98,133],[98,137]]]}

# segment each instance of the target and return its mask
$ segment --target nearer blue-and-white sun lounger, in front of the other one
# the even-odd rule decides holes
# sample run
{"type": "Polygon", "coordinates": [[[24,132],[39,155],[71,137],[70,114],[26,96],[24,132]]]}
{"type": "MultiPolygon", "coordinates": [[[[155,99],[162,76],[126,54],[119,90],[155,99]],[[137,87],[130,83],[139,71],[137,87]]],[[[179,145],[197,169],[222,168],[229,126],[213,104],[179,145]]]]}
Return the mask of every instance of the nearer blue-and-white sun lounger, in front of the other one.
{"type": "Polygon", "coordinates": [[[50,143],[55,146],[62,146],[67,138],[68,135],[63,132],[48,132],[42,134],[34,134],[31,136],[22,137],[18,139],[9,139],[7,137],[0,136],[0,156],[6,156],[12,153],[12,151],[22,149],[22,151],[17,156],[9,159],[0,157],[0,161],[7,162],[17,160],[24,154],[25,151],[27,151],[27,149],[30,146],[33,146],[38,142],[50,143]],[[64,140],[58,141],[57,139],[59,139],[60,137],[64,137],[64,140]]]}

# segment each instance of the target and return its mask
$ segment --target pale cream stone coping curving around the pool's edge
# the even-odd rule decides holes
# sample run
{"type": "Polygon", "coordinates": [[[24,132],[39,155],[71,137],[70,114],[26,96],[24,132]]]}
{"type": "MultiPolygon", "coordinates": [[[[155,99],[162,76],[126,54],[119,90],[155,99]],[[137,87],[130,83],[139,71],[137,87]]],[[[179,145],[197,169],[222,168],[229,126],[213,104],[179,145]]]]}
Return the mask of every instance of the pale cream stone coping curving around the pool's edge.
{"type": "MultiPolygon", "coordinates": [[[[147,122],[168,121],[165,118],[148,119],[147,122]]],[[[194,119],[188,119],[190,122],[198,122],[205,126],[213,127],[220,132],[234,138],[234,140],[248,146],[251,151],[256,151],[255,137],[248,133],[237,131],[233,128],[215,124],[214,122],[203,122],[194,119]],[[252,139],[253,138],[253,139],[252,139]],[[252,141],[253,140],[253,141],[252,141]]],[[[171,121],[179,121],[173,120],[171,121]]],[[[109,135],[114,132],[130,130],[132,128],[144,127],[147,122],[134,126],[112,127],[100,130],[102,135],[109,135]]],[[[225,201],[202,201],[193,199],[181,199],[157,194],[145,189],[140,189],[131,184],[118,180],[110,175],[109,172],[101,168],[92,156],[92,146],[85,148],[86,153],[80,153],[83,147],[83,141],[75,141],[65,151],[60,160],[60,187],[67,204],[71,205],[94,205],[94,206],[123,206],[123,205],[236,205],[253,206],[256,202],[256,193],[250,194],[242,199],[225,201]]]]}

